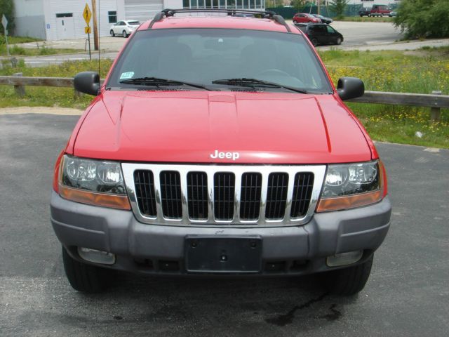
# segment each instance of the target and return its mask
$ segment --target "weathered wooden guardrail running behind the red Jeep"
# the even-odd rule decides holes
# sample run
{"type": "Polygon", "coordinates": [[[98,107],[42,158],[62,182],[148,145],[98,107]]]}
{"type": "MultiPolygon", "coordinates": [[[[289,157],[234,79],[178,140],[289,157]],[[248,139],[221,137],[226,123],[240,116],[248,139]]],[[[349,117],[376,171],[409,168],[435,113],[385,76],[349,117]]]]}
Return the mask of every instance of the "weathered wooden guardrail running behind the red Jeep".
{"type": "MultiPolygon", "coordinates": [[[[25,86],[56,86],[73,88],[73,78],[23,77],[21,73],[18,73],[14,74],[14,76],[0,76],[0,85],[14,86],[15,92],[22,96],[25,95],[25,86]]],[[[76,94],[79,95],[79,93],[76,94]]],[[[431,120],[438,121],[441,119],[441,108],[449,108],[449,95],[441,95],[441,91],[434,91],[429,95],[422,93],[365,91],[365,94],[362,97],[354,98],[349,100],[349,102],[430,107],[431,120]]]]}

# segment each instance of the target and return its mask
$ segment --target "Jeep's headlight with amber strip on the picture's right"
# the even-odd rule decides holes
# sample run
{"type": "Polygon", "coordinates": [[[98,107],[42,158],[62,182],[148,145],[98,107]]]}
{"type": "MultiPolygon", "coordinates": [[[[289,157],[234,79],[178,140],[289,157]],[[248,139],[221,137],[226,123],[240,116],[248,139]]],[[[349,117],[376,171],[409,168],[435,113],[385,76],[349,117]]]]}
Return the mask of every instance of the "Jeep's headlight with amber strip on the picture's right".
{"type": "Polygon", "coordinates": [[[316,211],[365,206],[383,197],[380,161],[329,165],[316,211]]]}

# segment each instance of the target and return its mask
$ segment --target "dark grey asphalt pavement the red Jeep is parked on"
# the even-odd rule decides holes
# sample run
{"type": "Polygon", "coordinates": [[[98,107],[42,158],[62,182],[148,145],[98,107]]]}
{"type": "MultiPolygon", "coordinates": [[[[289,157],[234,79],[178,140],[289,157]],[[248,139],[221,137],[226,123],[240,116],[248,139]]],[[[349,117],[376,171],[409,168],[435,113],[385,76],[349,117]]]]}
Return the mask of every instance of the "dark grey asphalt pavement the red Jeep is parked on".
{"type": "Polygon", "coordinates": [[[358,296],[315,277],[121,274],[74,291],[49,219],[53,164],[76,116],[0,115],[0,336],[448,336],[449,151],[378,143],[394,209],[358,296]]]}

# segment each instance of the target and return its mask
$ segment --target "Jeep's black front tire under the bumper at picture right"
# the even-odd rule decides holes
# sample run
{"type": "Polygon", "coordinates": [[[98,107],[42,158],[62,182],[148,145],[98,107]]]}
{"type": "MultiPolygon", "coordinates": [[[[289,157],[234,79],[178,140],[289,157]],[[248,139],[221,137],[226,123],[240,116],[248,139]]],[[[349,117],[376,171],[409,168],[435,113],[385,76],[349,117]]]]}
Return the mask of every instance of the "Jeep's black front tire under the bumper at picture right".
{"type": "Polygon", "coordinates": [[[351,296],[361,291],[370,277],[373,265],[372,255],[368,260],[354,267],[323,272],[321,275],[324,286],[336,295],[351,296]]]}

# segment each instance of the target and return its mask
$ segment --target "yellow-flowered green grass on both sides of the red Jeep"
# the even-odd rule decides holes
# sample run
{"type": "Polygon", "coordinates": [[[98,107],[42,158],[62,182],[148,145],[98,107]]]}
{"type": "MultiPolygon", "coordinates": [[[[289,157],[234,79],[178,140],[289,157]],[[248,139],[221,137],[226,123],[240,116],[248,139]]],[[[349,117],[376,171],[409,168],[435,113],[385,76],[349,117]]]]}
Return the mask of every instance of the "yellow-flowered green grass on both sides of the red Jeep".
{"type": "MultiPolygon", "coordinates": [[[[359,77],[369,91],[431,93],[449,95],[449,48],[420,51],[320,51],[334,83],[340,77],[359,77]]],[[[102,60],[102,77],[111,65],[102,60]]],[[[73,77],[77,72],[98,70],[97,61],[65,62],[50,67],[6,67],[0,75],[23,72],[24,76],[73,77]]],[[[12,86],[0,86],[0,107],[60,106],[84,109],[92,96],[74,97],[71,88],[27,87],[25,98],[18,98],[12,86]]],[[[430,109],[394,105],[349,103],[374,140],[391,143],[449,148],[449,110],[442,110],[441,121],[429,121],[430,109]],[[422,138],[415,136],[420,131],[422,138]]]]}

